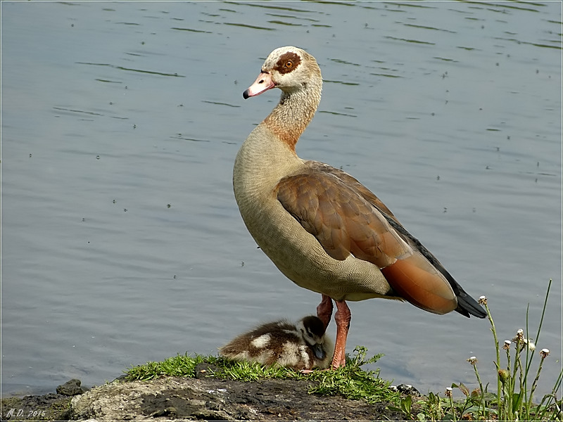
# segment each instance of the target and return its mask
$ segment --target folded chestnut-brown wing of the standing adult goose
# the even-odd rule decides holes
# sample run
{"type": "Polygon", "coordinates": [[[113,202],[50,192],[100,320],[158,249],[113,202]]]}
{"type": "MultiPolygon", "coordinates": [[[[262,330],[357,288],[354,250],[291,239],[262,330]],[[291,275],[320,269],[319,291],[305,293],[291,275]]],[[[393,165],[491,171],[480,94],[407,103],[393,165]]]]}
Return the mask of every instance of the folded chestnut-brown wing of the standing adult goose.
{"type": "Polygon", "coordinates": [[[407,240],[377,196],[346,172],[308,163],[308,172],[281,179],[277,198],[328,255],[344,260],[352,254],[376,264],[398,296],[429,312],[455,309],[450,283],[407,240]]]}

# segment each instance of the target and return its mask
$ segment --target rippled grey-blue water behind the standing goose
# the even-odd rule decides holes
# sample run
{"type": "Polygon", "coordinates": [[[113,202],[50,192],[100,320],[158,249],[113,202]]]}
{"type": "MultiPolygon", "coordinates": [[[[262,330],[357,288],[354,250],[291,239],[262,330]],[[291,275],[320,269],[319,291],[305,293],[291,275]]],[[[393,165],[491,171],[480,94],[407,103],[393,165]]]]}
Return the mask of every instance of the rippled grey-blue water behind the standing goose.
{"type": "MultiPolygon", "coordinates": [[[[232,193],[243,101],[283,45],[320,63],[298,153],[371,188],[475,298],[531,337],[538,392],[561,366],[561,5],[7,3],[2,15],[3,395],[99,385],[214,354],[260,321],[315,312],[255,248],[232,193]]],[[[348,352],[422,392],[493,381],[488,321],[350,303],[348,352]]],[[[334,335],[334,324],[331,324],[334,335]]]]}

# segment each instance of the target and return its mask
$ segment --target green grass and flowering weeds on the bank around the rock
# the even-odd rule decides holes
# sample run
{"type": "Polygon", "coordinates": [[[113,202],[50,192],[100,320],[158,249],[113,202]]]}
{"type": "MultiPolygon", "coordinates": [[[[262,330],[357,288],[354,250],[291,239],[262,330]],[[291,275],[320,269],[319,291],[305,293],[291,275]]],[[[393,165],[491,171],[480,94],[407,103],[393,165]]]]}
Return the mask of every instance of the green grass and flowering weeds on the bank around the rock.
{"type": "MultiPolygon", "coordinates": [[[[540,340],[541,327],[545,308],[547,307],[552,281],[549,281],[545,295],[543,312],[538,323],[534,341],[540,340]]],[[[562,400],[557,394],[562,384],[563,370],[552,392],[544,395],[539,402],[534,402],[534,393],[538,385],[543,362],[548,358],[548,349],[536,354],[536,345],[529,338],[529,309],[526,309],[526,328],[517,331],[512,340],[505,340],[502,345],[498,341],[491,309],[487,299],[482,296],[479,302],[486,309],[491,323],[491,332],[496,352],[495,360],[495,392],[488,391],[489,385],[483,385],[479,375],[478,360],[470,357],[467,362],[473,366],[479,388],[470,391],[464,384],[452,384],[445,390],[443,397],[429,392],[426,396],[413,399],[410,395],[400,395],[390,388],[391,383],[379,378],[379,369],[365,371],[365,364],[376,363],[381,358],[378,354],[366,359],[367,349],[358,346],[353,357],[347,357],[346,366],[336,371],[313,371],[303,374],[281,366],[262,366],[252,362],[232,362],[213,356],[178,354],[163,362],[148,362],[134,366],[126,371],[126,379],[150,380],[160,376],[194,377],[196,366],[201,363],[213,366],[209,376],[227,378],[237,381],[251,382],[264,378],[291,378],[315,381],[311,383],[310,394],[341,395],[348,399],[365,400],[369,403],[387,402],[388,409],[402,411],[409,420],[419,421],[462,421],[462,420],[498,420],[498,421],[563,421],[562,400]],[[536,364],[534,357],[539,355],[536,364]],[[502,356],[502,358],[501,358],[502,356]],[[460,390],[462,400],[453,399],[453,390],[460,390]]],[[[537,359],[536,359],[537,361],[537,359]]]]}

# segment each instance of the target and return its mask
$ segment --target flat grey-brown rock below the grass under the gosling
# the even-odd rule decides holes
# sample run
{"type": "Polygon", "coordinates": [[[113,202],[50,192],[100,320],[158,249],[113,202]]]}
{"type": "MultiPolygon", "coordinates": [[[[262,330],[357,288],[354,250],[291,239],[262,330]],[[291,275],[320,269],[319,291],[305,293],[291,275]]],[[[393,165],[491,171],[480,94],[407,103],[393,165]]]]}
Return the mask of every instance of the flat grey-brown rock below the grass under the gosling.
{"type": "Polygon", "coordinates": [[[310,395],[310,381],[267,379],[251,383],[217,378],[165,377],[114,381],[72,397],[71,420],[403,420],[387,403],[310,395]]]}

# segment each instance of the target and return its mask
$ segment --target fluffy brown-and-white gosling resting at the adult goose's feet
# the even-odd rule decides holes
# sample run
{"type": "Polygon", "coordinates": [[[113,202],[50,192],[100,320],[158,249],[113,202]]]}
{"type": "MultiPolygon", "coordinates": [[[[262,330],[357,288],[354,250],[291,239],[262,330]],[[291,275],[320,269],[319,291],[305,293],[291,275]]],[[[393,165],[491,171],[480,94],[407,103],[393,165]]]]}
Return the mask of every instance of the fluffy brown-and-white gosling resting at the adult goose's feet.
{"type": "Polygon", "coordinates": [[[236,361],[308,371],[327,369],[333,351],[323,322],[317,316],[305,316],[296,324],[285,320],[262,324],[220,347],[219,354],[236,361]]]}

